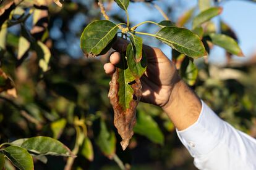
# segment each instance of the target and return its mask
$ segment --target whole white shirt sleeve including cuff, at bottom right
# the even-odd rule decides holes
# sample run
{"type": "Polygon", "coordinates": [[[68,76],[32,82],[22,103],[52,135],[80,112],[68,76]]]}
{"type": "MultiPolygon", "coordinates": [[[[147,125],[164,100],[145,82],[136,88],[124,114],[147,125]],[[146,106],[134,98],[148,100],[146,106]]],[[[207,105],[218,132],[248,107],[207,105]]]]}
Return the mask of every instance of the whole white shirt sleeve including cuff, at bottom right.
{"type": "Polygon", "coordinates": [[[203,101],[197,122],[177,135],[198,169],[256,169],[256,140],[220,119],[203,101]]]}

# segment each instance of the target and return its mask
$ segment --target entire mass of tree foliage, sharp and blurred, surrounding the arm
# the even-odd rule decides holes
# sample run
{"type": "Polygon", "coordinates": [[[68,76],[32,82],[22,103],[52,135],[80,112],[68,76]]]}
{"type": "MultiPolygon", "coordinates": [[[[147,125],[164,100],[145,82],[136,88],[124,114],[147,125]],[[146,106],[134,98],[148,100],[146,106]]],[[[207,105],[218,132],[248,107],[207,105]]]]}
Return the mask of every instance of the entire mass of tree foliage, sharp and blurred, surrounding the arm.
{"type": "MultiPolygon", "coordinates": [[[[221,70],[214,70],[206,60],[213,45],[223,47],[229,58],[243,55],[234,31],[222,21],[217,29],[211,21],[224,9],[218,2],[198,1],[198,7],[187,10],[175,22],[160,9],[165,20],[134,25],[127,9],[130,2],[139,1],[104,1],[108,6],[116,3],[126,19],[108,17],[111,7],[102,10],[98,1],[0,1],[0,169],[101,169],[106,164],[112,166],[112,161],[121,169],[129,169],[130,165],[137,166],[133,159],[139,163],[145,162],[143,159],[160,161],[160,169],[189,169],[186,156],[182,156],[182,163],[175,161],[186,153],[176,142],[171,121],[159,108],[139,103],[140,77],[147,70],[144,36],[170,46],[182,78],[211,108],[226,110],[220,113],[222,118],[252,134],[250,126],[256,121],[249,113],[256,111],[252,102],[256,94],[244,87],[249,84],[256,89],[251,83],[254,77],[216,79],[213,75],[221,70]],[[100,10],[105,20],[95,20],[100,10]],[[82,26],[73,22],[77,16],[82,26]],[[156,33],[137,31],[145,25],[159,29],[156,33]],[[92,57],[106,54],[117,38],[129,39],[110,89],[101,67],[104,59],[68,57],[75,51],[72,46],[79,48],[74,37],[84,54],[92,57]],[[194,61],[203,63],[196,65],[194,61]],[[232,103],[239,104],[229,107],[232,103]],[[147,155],[142,155],[145,151],[147,155]]],[[[159,9],[157,1],[143,2],[159,9]]]]}

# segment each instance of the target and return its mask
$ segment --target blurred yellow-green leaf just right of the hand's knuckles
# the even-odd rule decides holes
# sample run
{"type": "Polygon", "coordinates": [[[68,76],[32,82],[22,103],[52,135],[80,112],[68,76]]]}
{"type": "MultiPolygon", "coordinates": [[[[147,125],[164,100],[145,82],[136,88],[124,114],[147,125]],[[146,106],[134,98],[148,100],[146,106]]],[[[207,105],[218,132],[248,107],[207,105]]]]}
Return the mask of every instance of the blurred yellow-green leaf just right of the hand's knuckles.
{"type": "Polygon", "coordinates": [[[182,79],[184,79],[189,86],[194,86],[195,82],[197,81],[198,69],[194,62],[189,59],[189,57],[186,57],[183,60],[179,73],[182,79]]]}

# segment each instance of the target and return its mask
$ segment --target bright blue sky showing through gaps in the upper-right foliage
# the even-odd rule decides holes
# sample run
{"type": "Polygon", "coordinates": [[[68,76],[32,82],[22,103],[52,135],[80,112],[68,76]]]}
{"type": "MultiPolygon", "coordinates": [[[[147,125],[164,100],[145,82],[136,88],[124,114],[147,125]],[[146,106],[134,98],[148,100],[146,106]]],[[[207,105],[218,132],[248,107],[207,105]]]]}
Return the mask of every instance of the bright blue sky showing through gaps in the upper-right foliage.
{"type": "MultiPolygon", "coordinates": [[[[176,20],[177,16],[181,15],[190,7],[194,7],[197,4],[195,0],[161,0],[158,1],[158,5],[166,10],[166,6],[163,4],[170,4],[174,6],[174,16],[171,20],[176,20]],[[164,2],[164,3],[163,3],[164,2]]],[[[223,7],[223,13],[220,18],[227,23],[236,32],[239,38],[239,45],[245,54],[246,60],[253,53],[256,52],[256,2],[248,1],[221,1],[220,6],[223,7]]],[[[117,10],[117,7],[114,7],[117,10]]],[[[130,21],[132,23],[139,23],[145,20],[154,20],[160,22],[163,17],[159,14],[158,10],[153,7],[145,6],[143,3],[130,3],[129,6],[130,21]]],[[[142,28],[147,29],[147,28],[142,28]]],[[[156,31],[156,28],[152,28],[149,31],[156,31]]],[[[146,42],[150,42],[151,46],[159,46],[157,41],[148,38],[146,42]]],[[[171,56],[171,51],[168,46],[160,46],[164,53],[171,56]]],[[[220,47],[215,47],[214,51],[210,55],[210,60],[213,62],[224,62],[224,51],[220,47]]]]}

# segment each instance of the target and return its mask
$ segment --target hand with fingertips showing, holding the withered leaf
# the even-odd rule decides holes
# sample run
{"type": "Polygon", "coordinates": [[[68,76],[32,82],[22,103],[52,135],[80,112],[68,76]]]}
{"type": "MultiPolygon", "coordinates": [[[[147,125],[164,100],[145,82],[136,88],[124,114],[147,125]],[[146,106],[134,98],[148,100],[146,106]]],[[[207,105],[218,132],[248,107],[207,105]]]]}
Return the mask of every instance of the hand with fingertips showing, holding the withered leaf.
{"type": "MultiPolygon", "coordinates": [[[[126,51],[129,41],[117,39],[113,49],[117,52],[111,54],[109,63],[104,65],[105,72],[112,75],[115,66],[121,59],[119,52],[126,51]]],[[[158,105],[162,108],[167,107],[171,103],[171,94],[174,86],[181,80],[177,74],[177,70],[171,60],[163,54],[163,52],[155,47],[143,45],[143,50],[147,55],[148,67],[145,74],[140,78],[142,83],[142,102],[158,105]]]]}

